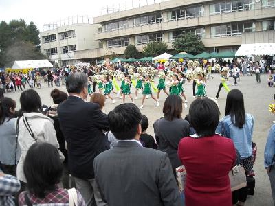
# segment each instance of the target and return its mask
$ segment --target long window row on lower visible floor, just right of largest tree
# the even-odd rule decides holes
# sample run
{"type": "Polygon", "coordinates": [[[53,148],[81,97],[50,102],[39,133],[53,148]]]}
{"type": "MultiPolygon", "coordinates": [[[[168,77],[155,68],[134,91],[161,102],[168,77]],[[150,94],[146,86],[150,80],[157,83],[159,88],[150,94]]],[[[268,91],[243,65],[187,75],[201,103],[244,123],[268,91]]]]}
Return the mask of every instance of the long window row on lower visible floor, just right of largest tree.
{"type": "Polygon", "coordinates": [[[231,23],[211,27],[211,38],[223,36],[239,36],[243,32],[255,32],[255,23],[231,23]]]}

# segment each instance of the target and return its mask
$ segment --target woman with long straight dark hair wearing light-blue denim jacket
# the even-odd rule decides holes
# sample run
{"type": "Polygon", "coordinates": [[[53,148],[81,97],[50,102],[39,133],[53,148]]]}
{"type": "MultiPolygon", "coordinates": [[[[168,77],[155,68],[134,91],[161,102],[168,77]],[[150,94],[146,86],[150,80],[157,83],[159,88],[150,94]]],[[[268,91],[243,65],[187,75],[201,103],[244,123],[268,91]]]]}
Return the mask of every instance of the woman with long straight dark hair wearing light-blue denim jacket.
{"type": "MultiPolygon", "coordinates": [[[[253,168],[252,135],[254,117],[245,113],[243,93],[239,89],[232,89],[226,98],[225,117],[221,121],[226,122],[230,128],[230,136],[236,150],[241,155],[241,165],[245,173],[250,174],[253,168]]],[[[248,187],[233,192],[233,204],[244,205],[248,197],[248,187]]]]}

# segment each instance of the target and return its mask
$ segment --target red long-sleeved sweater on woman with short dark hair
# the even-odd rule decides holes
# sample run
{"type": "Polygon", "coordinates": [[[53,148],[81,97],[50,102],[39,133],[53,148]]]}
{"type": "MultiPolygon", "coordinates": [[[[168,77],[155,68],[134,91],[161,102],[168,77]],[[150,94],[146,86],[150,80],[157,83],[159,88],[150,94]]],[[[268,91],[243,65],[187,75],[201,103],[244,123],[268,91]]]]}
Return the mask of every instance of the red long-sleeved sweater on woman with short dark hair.
{"type": "Polygon", "coordinates": [[[231,139],[186,137],[179,142],[179,159],[186,168],[186,206],[232,206],[228,172],[236,161],[231,139]]]}

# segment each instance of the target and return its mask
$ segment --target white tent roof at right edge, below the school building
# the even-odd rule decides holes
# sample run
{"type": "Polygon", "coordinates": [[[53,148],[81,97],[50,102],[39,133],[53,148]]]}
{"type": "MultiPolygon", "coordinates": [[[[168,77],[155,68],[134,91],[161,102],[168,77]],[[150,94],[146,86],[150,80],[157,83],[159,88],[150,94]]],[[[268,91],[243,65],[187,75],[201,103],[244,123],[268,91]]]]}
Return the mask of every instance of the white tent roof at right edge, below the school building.
{"type": "Polygon", "coordinates": [[[235,56],[269,55],[275,54],[275,43],[243,44],[236,51],[235,56]]]}

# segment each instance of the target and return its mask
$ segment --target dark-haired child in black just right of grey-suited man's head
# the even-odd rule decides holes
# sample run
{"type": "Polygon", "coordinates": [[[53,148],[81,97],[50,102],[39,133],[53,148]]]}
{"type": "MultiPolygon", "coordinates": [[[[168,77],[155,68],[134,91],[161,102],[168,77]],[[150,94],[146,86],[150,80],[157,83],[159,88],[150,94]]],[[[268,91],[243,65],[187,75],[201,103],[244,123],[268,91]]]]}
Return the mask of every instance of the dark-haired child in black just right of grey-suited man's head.
{"type": "Polygon", "coordinates": [[[155,144],[155,139],[151,135],[146,133],[146,130],[149,126],[148,118],[145,115],[142,115],[142,122],[140,122],[142,126],[142,134],[140,135],[140,143],[144,148],[152,148],[156,149],[157,144],[155,144]]]}

